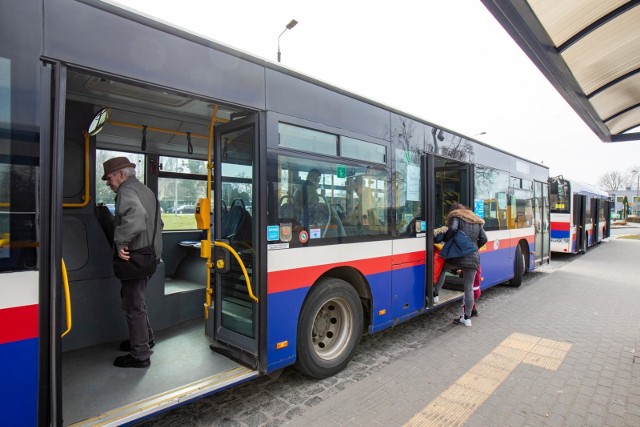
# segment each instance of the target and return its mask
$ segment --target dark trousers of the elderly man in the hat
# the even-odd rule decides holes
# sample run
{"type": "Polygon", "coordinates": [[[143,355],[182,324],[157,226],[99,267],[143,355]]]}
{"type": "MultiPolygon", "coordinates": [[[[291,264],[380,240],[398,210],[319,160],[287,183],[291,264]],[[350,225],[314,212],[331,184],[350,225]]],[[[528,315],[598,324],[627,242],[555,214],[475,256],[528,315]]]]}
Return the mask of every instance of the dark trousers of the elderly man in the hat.
{"type": "Polygon", "coordinates": [[[120,289],[122,309],[129,327],[131,356],[139,360],[148,359],[153,353],[149,348],[149,341],[154,339],[153,330],[149,324],[147,307],[144,303],[144,293],[148,283],[148,277],[122,280],[122,288],[120,289]]]}

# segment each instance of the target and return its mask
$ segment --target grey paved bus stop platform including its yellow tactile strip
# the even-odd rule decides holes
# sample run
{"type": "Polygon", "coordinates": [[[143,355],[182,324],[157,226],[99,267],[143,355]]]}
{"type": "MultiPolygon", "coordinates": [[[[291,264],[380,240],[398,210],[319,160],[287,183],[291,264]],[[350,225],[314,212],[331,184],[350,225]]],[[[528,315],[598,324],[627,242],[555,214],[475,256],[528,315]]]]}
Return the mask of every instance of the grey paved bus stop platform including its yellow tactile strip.
{"type": "Polygon", "coordinates": [[[640,240],[525,278],[287,425],[640,426],[640,240]]]}

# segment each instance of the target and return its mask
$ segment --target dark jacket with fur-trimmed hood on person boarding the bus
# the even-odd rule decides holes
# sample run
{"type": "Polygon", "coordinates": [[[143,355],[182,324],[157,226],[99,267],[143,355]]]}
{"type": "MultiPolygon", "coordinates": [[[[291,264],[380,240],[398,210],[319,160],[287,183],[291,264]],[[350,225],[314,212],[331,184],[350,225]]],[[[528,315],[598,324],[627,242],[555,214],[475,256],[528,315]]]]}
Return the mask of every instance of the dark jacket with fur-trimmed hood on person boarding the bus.
{"type": "Polygon", "coordinates": [[[449,229],[445,234],[444,240],[452,239],[458,230],[461,230],[469,237],[471,243],[476,247],[476,251],[471,255],[460,258],[448,258],[447,264],[459,268],[474,268],[480,266],[480,255],[477,249],[487,243],[487,234],[484,232],[484,220],[473,211],[467,209],[456,209],[447,215],[447,225],[449,229]]]}

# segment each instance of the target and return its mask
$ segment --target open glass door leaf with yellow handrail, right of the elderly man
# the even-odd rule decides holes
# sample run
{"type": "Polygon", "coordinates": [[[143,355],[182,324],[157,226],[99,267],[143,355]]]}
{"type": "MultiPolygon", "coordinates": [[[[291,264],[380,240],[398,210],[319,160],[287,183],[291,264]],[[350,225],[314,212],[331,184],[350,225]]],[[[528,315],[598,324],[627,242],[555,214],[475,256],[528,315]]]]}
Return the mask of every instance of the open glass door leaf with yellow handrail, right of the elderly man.
{"type": "Polygon", "coordinates": [[[215,127],[212,349],[258,366],[258,114],[215,127]]]}

